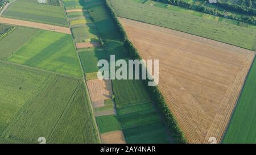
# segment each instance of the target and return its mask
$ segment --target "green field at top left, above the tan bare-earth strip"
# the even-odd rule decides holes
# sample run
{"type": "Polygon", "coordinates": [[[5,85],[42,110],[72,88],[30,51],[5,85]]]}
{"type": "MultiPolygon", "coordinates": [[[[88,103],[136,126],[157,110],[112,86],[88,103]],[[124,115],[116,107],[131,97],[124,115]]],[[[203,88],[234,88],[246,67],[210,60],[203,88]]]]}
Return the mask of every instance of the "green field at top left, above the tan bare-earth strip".
{"type": "Polygon", "coordinates": [[[3,16],[68,27],[63,7],[40,4],[37,0],[17,0],[9,6],[3,16]]]}

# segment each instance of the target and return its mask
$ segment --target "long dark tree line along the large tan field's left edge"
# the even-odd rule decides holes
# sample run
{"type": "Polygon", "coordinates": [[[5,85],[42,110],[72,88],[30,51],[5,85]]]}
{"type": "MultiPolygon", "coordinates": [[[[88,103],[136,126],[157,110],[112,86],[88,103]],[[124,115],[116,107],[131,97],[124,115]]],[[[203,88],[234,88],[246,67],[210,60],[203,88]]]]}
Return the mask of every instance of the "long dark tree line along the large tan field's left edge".
{"type": "MultiPolygon", "coordinates": [[[[131,59],[135,60],[141,60],[141,56],[139,55],[137,49],[134,47],[133,43],[129,41],[127,37],[127,33],[125,32],[125,29],[123,28],[122,24],[119,22],[117,18],[117,14],[110,6],[110,3],[108,0],[105,0],[105,6],[108,9],[109,13],[112,15],[112,18],[114,20],[115,26],[118,28],[123,43],[125,45],[125,48],[129,52],[129,56],[131,59]]],[[[156,106],[159,108],[159,111],[162,112],[162,115],[164,117],[165,123],[168,125],[172,137],[174,138],[175,143],[187,143],[187,140],[185,139],[184,133],[181,131],[179,125],[177,124],[177,121],[168,108],[166,104],[166,100],[164,100],[163,95],[160,93],[157,86],[148,86],[148,79],[143,81],[145,86],[147,87],[148,93],[150,93],[150,96],[152,98],[152,101],[156,104],[156,106]]]]}

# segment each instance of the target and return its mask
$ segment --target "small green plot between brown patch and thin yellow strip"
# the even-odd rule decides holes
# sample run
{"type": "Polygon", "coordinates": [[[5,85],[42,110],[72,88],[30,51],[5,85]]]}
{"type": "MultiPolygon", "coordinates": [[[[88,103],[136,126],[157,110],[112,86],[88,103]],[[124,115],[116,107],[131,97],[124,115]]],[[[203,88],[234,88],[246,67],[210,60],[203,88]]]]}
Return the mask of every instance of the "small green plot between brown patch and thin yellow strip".
{"type": "Polygon", "coordinates": [[[106,59],[105,52],[101,48],[84,49],[83,52],[79,52],[79,56],[85,73],[98,72],[98,61],[106,59]]]}

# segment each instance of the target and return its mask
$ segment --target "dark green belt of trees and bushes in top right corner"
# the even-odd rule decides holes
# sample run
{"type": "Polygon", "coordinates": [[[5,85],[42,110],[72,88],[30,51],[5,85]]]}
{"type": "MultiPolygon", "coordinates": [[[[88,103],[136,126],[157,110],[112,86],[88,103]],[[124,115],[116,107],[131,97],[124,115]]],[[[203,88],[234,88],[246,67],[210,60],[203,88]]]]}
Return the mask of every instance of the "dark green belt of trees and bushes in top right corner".
{"type": "Polygon", "coordinates": [[[226,14],[225,12],[219,11],[217,8],[212,9],[204,5],[193,5],[192,3],[184,2],[182,0],[154,0],[154,1],[160,1],[170,5],[185,7],[187,9],[204,12],[211,15],[222,16],[224,18],[229,18],[229,19],[240,21],[240,22],[256,24],[256,20],[254,19],[254,16],[251,16],[251,15],[256,15],[256,10],[251,9],[249,7],[232,5],[232,4],[223,3],[220,1],[217,1],[217,3],[212,3],[214,5],[222,7],[223,9],[232,10],[232,11],[236,11],[236,12],[240,12],[242,14],[248,15],[248,16],[243,15],[242,18],[237,18],[236,14],[231,14],[231,13],[226,14]]]}

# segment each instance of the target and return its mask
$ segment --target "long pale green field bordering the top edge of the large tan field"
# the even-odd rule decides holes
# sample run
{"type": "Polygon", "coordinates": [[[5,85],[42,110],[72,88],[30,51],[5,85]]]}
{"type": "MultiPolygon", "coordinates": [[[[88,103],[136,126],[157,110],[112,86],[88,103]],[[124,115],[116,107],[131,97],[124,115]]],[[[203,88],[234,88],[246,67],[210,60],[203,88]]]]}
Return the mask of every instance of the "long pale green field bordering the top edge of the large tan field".
{"type": "Polygon", "coordinates": [[[118,16],[253,49],[256,30],[132,1],[110,0],[118,16]]]}

